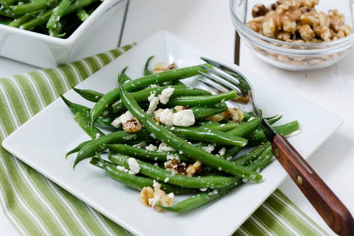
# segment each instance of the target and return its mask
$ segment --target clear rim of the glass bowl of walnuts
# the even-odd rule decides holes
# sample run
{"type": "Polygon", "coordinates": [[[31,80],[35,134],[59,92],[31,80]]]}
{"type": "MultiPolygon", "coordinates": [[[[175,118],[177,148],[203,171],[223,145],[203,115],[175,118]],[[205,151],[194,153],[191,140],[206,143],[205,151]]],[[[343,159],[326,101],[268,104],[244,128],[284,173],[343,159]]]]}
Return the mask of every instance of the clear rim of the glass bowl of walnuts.
{"type": "MultiPolygon", "coordinates": [[[[350,2],[354,3],[354,0],[349,0],[350,2]]],[[[236,0],[230,0],[229,1],[229,6],[230,6],[230,10],[231,10],[231,14],[232,14],[232,18],[238,23],[238,26],[241,27],[242,30],[246,31],[247,34],[249,34],[252,38],[256,39],[256,40],[262,40],[263,43],[267,43],[270,44],[274,47],[278,47],[278,48],[284,48],[282,46],[286,46],[286,47],[306,47],[307,49],[301,49],[301,48],[287,48],[288,50],[300,50],[300,51],[311,51],[309,50],[309,48],[313,48],[316,50],[321,50],[321,49],[328,49],[331,48],[331,46],[338,46],[341,44],[345,44],[345,43],[352,43],[354,44],[354,32],[347,36],[344,37],[342,39],[338,39],[335,41],[331,41],[331,42],[325,42],[325,43],[315,43],[315,44],[301,44],[301,43],[290,43],[290,42],[284,42],[281,40],[277,40],[277,39],[272,39],[269,37],[266,37],[262,34],[257,33],[256,31],[250,29],[247,27],[246,24],[244,24],[236,15],[235,12],[235,3],[236,0]],[[353,42],[351,42],[353,41],[353,42]],[[278,46],[281,45],[281,46],[278,46]]]]}

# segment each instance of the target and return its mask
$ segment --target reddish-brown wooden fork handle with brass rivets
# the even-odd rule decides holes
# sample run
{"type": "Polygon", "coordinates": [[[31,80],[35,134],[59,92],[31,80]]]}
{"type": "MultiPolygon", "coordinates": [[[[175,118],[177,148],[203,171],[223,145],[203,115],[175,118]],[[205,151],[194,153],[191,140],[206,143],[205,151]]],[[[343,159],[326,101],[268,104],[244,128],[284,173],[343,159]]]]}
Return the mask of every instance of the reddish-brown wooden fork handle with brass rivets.
{"type": "Polygon", "coordinates": [[[284,136],[274,137],[272,152],[333,232],[354,236],[351,213],[284,136]]]}

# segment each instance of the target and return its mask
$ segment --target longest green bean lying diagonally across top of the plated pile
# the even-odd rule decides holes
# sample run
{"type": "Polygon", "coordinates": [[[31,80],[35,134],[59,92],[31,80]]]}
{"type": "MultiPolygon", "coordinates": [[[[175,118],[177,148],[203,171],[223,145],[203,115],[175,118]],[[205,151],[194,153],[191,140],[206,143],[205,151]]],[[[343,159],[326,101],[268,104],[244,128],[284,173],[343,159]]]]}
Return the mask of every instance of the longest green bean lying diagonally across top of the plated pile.
{"type": "Polygon", "coordinates": [[[262,175],[249,171],[243,166],[234,165],[227,160],[214,156],[168,132],[166,128],[156,124],[156,122],[139,107],[133,96],[123,88],[121,81],[119,81],[118,85],[123,104],[133,114],[133,116],[144,125],[145,129],[152,133],[160,141],[165,142],[175,150],[183,150],[183,155],[192,160],[200,161],[205,165],[222,170],[225,173],[236,176],[244,176],[244,178],[251,179],[256,182],[262,180],[262,175]]]}

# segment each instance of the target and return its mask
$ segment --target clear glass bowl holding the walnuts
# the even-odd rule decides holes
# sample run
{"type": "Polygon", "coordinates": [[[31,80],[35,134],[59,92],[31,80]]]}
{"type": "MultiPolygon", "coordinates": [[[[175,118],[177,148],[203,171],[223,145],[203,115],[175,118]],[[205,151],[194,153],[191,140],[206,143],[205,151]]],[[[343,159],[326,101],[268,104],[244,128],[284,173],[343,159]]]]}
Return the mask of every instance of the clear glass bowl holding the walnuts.
{"type": "MultiPolygon", "coordinates": [[[[252,8],[261,3],[265,6],[276,0],[230,0],[231,18],[243,43],[257,57],[265,62],[285,70],[307,71],[322,69],[343,59],[354,46],[354,34],[326,43],[296,44],[268,38],[248,28],[245,23],[252,17],[252,8]]],[[[345,23],[354,26],[354,0],[333,1],[319,0],[317,11],[326,14],[330,9],[337,9],[344,14],[345,23]]]]}

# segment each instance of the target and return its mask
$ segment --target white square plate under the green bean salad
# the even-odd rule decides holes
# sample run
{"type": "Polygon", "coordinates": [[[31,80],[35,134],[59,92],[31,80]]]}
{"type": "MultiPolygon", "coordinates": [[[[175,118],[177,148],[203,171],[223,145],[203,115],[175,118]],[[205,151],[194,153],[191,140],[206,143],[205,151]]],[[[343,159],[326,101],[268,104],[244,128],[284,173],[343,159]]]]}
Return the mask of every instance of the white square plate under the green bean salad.
{"type": "MultiPolygon", "coordinates": [[[[108,92],[117,86],[117,73],[125,66],[132,78],[140,77],[146,59],[155,55],[154,62],[176,62],[178,68],[202,63],[206,56],[228,64],[207,50],[191,45],[168,32],[152,37],[108,66],[98,71],[78,87],[108,92]]],[[[284,114],[282,123],[298,119],[301,134],[289,139],[304,158],[321,145],[342,123],[342,118],[310,101],[292,94],[236,65],[252,83],[258,106],[266,116],[284,114]]],[[[187,84],[195,84],[195,79],[187,84]]],[[[65,94],[71,101],[90,105],[74,91],[65,94]]],[[[194,212],[178,215],[155,212],[139,201],[139,192],[111,180],[104,171],[83,161],[73,171],[74,156],[66,161],[66,152],[88,136],[73,120],[65,103],[58,99],[28,120],[3,142],[3,147],[58,185],[133,234],[156,235],[231,235],[288,177],[282,166],[273,160],[262,171],[264,180],[248,183],[242,188],[194,212]]],[[[178,200],[178,198],[177,198],[178,200]]]]}

